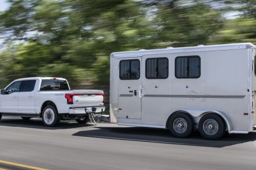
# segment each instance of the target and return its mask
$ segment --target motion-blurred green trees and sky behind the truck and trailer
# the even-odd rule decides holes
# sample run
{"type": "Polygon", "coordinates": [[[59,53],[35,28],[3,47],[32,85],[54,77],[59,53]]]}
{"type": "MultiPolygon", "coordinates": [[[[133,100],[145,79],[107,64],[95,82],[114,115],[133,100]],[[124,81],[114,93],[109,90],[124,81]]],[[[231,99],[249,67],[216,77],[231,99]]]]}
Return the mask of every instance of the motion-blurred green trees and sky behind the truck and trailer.
{"type": "Polygon", "coordinates": [[[112,52],[256,44],[255,0],[0,1],[1,88],[47,76],[108,89],[112,52]]]}

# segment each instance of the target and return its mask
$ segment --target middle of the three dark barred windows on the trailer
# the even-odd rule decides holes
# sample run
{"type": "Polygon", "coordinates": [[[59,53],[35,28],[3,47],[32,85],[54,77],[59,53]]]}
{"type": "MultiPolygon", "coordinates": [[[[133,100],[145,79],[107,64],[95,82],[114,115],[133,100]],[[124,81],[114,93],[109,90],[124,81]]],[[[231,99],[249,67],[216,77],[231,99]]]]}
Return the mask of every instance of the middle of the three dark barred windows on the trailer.
{"type": "Polygon", "coordinates": [[[168,58],[148,58],[146,60],[146,78],[168,78],[168,58]]]}

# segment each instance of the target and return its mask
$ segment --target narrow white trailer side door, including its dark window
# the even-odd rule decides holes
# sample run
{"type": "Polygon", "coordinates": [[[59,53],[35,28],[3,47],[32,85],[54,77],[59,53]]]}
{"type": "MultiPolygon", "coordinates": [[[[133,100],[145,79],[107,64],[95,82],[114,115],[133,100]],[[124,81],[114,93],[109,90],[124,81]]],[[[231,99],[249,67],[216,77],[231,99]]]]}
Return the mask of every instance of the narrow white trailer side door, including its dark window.
{"type": "Polygon", "coordinates": [[[118,63],[118,118],[141,119],[141,57],[118,63]]]}

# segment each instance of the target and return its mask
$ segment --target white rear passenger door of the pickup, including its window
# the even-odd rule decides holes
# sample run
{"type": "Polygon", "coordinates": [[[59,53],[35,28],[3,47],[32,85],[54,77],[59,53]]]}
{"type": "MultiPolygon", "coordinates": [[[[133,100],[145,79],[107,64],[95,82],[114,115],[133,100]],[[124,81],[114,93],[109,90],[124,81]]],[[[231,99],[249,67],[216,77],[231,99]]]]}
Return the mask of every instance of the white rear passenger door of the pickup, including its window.
{"type": "Polygon", "coordinates": [[[35,82],[36,80],[23,80],[18,97],[18,111],[21,114],[35,114],[35,82]]]}

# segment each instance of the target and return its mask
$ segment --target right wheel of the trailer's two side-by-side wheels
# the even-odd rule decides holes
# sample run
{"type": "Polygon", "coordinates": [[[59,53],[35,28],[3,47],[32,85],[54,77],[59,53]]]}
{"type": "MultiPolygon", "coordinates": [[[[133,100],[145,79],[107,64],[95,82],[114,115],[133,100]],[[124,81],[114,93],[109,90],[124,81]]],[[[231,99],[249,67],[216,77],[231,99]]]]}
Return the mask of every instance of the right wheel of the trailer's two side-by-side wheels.
{"type": "Polygon", "coordinates": [[[198,124],[199,133],[207,140],[216,140],[225,132],[224,120],[216,114],[204,115],[198,124]]]}

